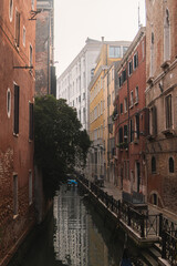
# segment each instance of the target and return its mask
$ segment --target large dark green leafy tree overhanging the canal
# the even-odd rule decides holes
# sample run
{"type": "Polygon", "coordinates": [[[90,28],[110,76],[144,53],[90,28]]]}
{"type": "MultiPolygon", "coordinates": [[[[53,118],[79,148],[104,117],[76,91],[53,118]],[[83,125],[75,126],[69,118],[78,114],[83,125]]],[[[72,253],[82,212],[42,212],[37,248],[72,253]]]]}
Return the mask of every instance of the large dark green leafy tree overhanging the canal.
{"type": "Polygon", "coordinates": [[[76,165],[85,166],[91,145],[76,110],[52,95],[35,98],[34,158],[42,171],[44,193],[52,197],[76,165]]]}

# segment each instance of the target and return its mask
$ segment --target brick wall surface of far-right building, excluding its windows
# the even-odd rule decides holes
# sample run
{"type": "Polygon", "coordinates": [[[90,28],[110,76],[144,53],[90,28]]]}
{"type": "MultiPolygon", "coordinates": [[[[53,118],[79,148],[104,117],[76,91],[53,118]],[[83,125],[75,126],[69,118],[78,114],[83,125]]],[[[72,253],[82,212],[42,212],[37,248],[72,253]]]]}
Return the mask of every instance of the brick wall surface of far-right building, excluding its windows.
{"type": "MultiPolygon", "coordinates": [[[[146,54],[147,54],[147,80],[149,78],[150,65],[150,32],[155,35],[155,59],[154,59],[154,80],[146,90],[146,105],[150,109],[153,105],[157,110],[157,135],[153,141],[147,141],[147,178],[148,178],[148,201],[154,203],[153,195],[157,196],[157,205],[177,214],[177,165],[176,165],[176,133],[177,133],[177,1],[150,1],[146,0],[147,11],[147,34],[146,34],[146,54]],[[166,9],[169,10],[170,25],[170,58],[169,65],[162,68],[164,63],[164,20],[166,9]],[[163,85],[163,92],[159,90],[159,83],[163,85]],[[173,99],[173,125],[174,132],[170,137],[165,135],[166,129],[166,106],[165,98],[170,94],[173,99]],[[152,173],[152,157],[155,156],[157,170],[152,173]],[[169,173],[169,157],[174,158],[175,171],[169,173]]],[[[168,129],[169,130],[169,129],[168,129]]]]}

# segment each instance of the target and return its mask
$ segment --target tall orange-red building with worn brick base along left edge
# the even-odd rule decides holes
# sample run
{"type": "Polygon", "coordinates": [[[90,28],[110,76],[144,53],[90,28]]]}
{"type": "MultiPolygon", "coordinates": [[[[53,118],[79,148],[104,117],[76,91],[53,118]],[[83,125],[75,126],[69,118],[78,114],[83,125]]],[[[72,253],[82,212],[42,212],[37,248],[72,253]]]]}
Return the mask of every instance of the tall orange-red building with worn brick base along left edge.
{"type": "Polygon", "coordinates": [[[0,265],[34,223],[34,7],[35,1],[0,1],[0,265]]]}

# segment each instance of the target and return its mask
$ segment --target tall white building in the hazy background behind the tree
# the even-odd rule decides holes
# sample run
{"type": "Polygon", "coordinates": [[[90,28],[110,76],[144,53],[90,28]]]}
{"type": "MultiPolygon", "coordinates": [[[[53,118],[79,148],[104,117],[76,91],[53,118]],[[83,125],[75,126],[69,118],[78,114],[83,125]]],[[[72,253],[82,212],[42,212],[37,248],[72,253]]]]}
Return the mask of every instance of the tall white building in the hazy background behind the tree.
{"type": "Polygon", "coordinates": [[[85,47],[59,76],[56,83],[56,98],[66,99],[67,104],[77,110],[77,117],[83,129],[87,131],[90,125],[90,92],[87,88],[94,74],[95,61],[100,54],[102,41],[87,38],[85,47]]]}

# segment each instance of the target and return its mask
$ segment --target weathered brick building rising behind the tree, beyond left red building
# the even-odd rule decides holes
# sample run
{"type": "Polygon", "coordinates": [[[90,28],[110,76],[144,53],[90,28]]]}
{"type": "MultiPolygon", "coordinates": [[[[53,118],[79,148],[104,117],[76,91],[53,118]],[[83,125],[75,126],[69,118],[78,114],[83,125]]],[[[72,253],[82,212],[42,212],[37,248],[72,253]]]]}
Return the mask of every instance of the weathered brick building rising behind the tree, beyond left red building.
{"type": "Polygon", "coordinates": [[[54,1],[37,0],[35,94],[56,94],[54,66],[54,1]]]}

